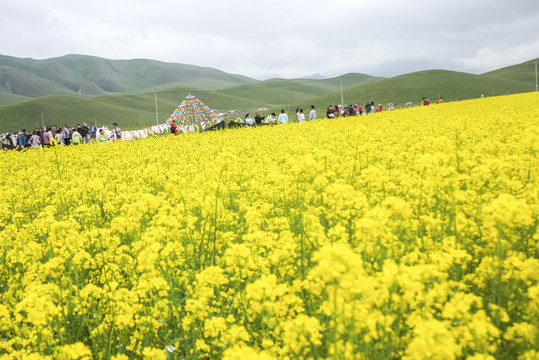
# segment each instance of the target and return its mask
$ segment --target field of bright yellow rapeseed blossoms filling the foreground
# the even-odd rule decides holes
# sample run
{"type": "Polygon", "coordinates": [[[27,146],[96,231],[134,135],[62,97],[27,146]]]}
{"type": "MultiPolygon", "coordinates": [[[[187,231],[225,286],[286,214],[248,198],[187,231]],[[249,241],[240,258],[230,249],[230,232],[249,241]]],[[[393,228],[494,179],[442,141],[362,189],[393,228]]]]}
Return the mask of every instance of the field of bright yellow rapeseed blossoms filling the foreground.
{"type": "Polygon", "coordinates": [[[539,359],[539,95],[0,153],[1,359],[539,359]]]}

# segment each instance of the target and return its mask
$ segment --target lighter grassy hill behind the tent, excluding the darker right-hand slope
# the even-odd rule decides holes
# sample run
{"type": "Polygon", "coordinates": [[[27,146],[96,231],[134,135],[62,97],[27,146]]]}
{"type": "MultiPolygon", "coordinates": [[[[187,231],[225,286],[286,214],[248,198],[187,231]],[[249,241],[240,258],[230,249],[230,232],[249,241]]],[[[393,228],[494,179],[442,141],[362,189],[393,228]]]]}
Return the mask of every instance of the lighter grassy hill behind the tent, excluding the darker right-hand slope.
{"type": "MultiPolygon", "coordinates": [[[[343,87],[373,81],[362,74],[343,76],[343,87]]],[[[306,101],[315,96],[329,94],[340,88],[339,78],[325,80],[273,79],[251,86],[236,86],[220,90],[197,90],[175,87],[158,92],[158,111],[163,122],[189,93],[218,110],[252,110],[263,106],[281,106],[288,101],[306,101]]],[[[3,131],[22,127],[34,128],[41,124],[41,112],[46,124],[74,124],[118,122],[125,128],[155,124],[155,95],[115,95],[99,97],[45,96],[22,103],[0,107],[3,131]]]]}

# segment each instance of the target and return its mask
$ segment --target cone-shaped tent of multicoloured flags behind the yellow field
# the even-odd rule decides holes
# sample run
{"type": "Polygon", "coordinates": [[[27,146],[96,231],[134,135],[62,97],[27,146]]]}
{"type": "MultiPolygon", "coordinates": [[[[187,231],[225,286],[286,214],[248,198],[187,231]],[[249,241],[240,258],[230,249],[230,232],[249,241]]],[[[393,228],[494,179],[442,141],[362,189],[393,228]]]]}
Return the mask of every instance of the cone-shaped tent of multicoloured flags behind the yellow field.
{"type": "Polygon", "coordinates": [[[189,94],[169,116],[165,124],[176,120],[178,129],[184,133],[204,131],[223,121],[215,110],[207,107],[202,101],[189,94]]]}

